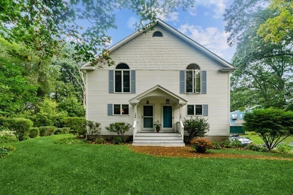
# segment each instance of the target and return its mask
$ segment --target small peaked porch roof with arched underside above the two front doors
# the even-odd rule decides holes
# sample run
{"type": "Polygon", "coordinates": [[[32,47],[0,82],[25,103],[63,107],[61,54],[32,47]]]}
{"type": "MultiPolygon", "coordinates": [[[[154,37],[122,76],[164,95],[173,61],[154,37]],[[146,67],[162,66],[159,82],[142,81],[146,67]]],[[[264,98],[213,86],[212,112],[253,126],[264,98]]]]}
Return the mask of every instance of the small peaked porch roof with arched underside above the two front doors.
{"type": "Polygon", "coordinates": [[[132,98],[129,100],[131,105],[139,104],[142,99],[146,98],[167,98],[171,101],[174,101],[176,104],[185,105],[187,104],[187,100],[181,98],[180,96],[170,92],[166,88],[156,85],[149,90],[145,91],[144,93],[132,98]]]}

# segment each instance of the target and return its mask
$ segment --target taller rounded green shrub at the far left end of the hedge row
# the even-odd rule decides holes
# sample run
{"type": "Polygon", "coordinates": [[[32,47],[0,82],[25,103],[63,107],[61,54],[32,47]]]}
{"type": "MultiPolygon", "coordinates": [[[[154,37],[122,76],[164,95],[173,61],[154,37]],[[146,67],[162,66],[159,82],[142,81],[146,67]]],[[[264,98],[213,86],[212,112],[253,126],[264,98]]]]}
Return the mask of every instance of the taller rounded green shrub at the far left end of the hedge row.
{"type": "Polygon", "coordinates": [[[5,119],[4,125],[12,131],[18,140],[22,141],[25,137],[28,137],[33,122],[26,118],[14,117],[5,119]]]}

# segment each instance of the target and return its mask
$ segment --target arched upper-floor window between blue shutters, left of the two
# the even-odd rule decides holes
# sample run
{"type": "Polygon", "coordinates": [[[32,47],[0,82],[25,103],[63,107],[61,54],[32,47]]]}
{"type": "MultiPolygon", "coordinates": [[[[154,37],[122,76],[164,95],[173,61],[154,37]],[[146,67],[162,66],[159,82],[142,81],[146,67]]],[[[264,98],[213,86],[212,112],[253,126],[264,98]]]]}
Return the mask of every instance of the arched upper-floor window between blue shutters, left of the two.
{"type": "Polygon", "coordinates": [[[130,93],[130,70],[126,63],[115,68],[115,92],[130,93]]]}

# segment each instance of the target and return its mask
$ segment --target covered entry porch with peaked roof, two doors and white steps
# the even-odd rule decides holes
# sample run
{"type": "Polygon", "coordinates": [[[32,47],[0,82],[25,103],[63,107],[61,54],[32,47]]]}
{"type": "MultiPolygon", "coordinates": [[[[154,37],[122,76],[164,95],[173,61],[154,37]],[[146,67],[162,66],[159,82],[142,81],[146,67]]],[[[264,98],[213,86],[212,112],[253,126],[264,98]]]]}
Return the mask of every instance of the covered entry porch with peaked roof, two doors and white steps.
{"type": "Polygon", "coordinates": [[[187,101],[156,85],[129,100],[134,107],[133,145],[184,146],[182,106],[187,101]],[[160,133],[154,122],[162,126],[160,133]]]}

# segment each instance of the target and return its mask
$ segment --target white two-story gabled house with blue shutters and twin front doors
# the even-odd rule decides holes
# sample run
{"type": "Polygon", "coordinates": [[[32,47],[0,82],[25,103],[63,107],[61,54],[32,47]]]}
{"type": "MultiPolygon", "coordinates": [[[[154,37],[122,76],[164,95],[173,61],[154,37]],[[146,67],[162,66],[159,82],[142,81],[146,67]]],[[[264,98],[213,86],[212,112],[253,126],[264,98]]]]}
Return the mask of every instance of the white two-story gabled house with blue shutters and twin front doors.
{"type": "Polygon", "coordinates": [[[126,122],[133,145],[184,146],[184,118],[205,117],[209,139],[229,136],[230,72],[235,70],[162,20],[109,48],[114,66],[86,63],[86,119],[126,122]],[[155,133],[153,122],[162,124],[155,133]]]}

